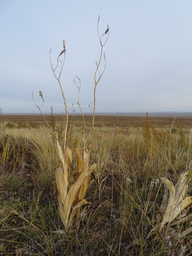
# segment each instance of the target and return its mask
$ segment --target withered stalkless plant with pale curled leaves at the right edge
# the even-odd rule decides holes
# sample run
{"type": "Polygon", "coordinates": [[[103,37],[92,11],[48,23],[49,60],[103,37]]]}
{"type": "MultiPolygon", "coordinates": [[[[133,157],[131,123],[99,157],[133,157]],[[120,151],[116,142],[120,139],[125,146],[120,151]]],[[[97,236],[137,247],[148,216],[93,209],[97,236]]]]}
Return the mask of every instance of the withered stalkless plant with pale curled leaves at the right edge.
{"type": "Polygon", "coordinates": [[[160,178],[165,186],[165,193],[153,220],[154,227],[147,236],[148,239],[155,234],[160,235],[165,240],[168,255],[172,256],[175,255],[178,246],[180,246],[179,255],[184,255],[187,243],[185,236],[192,232],[192,228],[179,232],[172,228],[192,218],[192,214],[188,214],[192,196],[187,195],[188,182],[191,179],[190,165],[191,163],[188,170],[180,175],[175,186],[168,179],[160,178]]]}

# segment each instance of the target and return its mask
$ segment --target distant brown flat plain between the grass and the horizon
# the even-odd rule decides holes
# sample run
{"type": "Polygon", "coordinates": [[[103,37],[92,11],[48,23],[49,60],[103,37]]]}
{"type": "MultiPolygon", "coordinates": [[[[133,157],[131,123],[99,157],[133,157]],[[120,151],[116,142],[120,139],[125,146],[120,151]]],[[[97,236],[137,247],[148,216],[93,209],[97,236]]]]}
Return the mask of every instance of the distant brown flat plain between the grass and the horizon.
{"type": "MultiPolygon", "coordinates": [[[[192,113],[149,113],[150,123],[155,127],[176,127],[178,122],[182,127],[191,127],[192,126],[192,113]]],[[[82,116],[76,115],[74,116],[70,114],[72,118],[74,118],[74,125],[81,126],[82,125],[82,116]]],[[[45,114],[45,119],[47,122],[50,122],[51,114],[45,114]]],[[[55,115],[58,123],[63,122],[65,119],[65,115],[55,115]]],[[[45,124],[44,117],[42,115],[28,115],[28,114],[15,114],[15,115],[2,115],[2,122],[10,121],[18,124],[34,124],[41,125],[45,124]]],[[[92,115],[84,115],[85,123],[90,124],[92,120],[92,115]]],[[[98,127],[141,127],[144,125],[146,119],[146,113],[127,113],[127,114],[97,114],[95,115],[95,126],[98,127]]]]}

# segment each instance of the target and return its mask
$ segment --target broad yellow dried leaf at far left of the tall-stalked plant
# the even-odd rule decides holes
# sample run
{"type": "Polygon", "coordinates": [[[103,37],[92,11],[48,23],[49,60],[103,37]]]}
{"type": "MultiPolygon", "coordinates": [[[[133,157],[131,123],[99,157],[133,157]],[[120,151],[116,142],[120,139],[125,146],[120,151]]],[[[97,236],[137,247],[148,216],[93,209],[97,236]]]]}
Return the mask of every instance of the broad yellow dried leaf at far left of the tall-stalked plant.
{"type": "Polygon", "coordinates": [[[60,194],[62,204],[64,204],[64,201],[67,197],[67,184],[65,182],[65,179],[63,178],[63,168],[58,167],[55,170],[55,178],[56,178],[56,184],[58,193],[60,194]]]}

